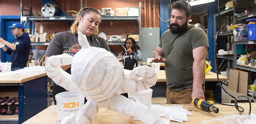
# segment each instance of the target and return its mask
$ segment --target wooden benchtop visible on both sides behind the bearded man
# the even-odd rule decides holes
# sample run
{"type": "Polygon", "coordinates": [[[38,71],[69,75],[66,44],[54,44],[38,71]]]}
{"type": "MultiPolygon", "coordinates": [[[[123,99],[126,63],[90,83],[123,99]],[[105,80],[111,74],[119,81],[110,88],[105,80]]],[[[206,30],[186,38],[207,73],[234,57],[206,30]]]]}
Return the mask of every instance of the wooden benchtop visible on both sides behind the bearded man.
{"type": "MultiPolygon", "coordinates": [[[[157,82],[166,82],[165,70],[160,70],[157,73],[157,82]]],[[[222,75],[219,75],[220,81],[227,81],[228,78],[222,75]]],[[[205,74],[205,81],[217,81],[217,74],[209,71],[205,74]]]]}

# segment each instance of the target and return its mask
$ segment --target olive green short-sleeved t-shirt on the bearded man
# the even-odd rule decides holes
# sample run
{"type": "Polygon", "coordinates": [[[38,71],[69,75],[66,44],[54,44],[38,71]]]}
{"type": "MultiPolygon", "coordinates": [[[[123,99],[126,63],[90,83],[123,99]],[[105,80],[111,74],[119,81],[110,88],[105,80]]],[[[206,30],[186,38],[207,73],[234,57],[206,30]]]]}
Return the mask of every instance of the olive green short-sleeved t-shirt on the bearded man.
{"type": "MultiPolygon", "coordinates": [[[[193,49],[200,46],[209,48],[204,30],[189,25],[186,33],[164,32],[158,45],[165,54],[166,83],[169,90],[180,91],[193,87],[193,49]]],[[[204,82],[203,82],[204,83],[204,82]]]]}

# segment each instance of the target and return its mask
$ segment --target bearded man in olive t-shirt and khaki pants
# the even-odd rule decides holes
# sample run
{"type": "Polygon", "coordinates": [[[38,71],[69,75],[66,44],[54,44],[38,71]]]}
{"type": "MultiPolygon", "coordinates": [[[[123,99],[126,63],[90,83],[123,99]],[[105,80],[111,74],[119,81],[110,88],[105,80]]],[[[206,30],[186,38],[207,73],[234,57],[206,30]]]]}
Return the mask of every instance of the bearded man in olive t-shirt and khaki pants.
{"type": "Polygon", "coordinates": [[[205,99],[205,59],[209,49],[204,30],[190,25],[191,6],[184,0],[171,5],[170,29],[162,35],[151,62],[165,62],[168,104],[205,99]]]}

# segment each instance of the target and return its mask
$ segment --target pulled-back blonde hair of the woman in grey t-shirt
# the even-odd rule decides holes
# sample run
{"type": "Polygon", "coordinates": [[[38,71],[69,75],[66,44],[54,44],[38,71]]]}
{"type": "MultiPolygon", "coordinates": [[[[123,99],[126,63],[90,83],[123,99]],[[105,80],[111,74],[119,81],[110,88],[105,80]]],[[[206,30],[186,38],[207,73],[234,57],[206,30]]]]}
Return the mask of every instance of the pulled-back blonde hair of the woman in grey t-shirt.
{"type": "MultiPolygon", "coordinates": [[[[76,34],[77,32],[77,28],[78,28],[78,25],[79,25],[79,20],[78,20],[78,17],[81,16],[82,18],[84,17],[84,15],[86,14],[89,14],[90,12],[95,12],[97,13],[98,15],[101,16],[101,13],[99,13],[99,11],[95,8],[92,8],[92,7],[85,7],[83,9],[81,9],[77,14],[76,14],[76,19],[75,21],[73,22],[73,24],[71,25],[70,27],[70,33],[72,34],[76,34]]],[[[98,32],[99,32],[99,29],[97,28],[95,30],[95,32],[93,33],[94,35],[98,35],[98,32]]]]}

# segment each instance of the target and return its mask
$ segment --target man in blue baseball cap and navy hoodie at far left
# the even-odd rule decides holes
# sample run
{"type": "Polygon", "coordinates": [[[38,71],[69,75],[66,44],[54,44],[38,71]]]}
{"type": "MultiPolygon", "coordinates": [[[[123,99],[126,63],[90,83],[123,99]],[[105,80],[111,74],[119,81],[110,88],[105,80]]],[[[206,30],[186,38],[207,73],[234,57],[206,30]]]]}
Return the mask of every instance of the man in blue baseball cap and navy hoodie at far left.
{"type": "Polygon", "coordinates": [[[5,41],[0,37],[0,46],[9,55],[10,61],[12,62],[12,71],[23,69],[27,66],[28,55],[30,50],[30,38],[28,33],[24,33],[24,26],[20,23],[15,23],[7,28],[12,28],[12,34],[16,37],[12,43],[5,41]],[[9,48],[5,47],[8,46],[9,48]]]}

